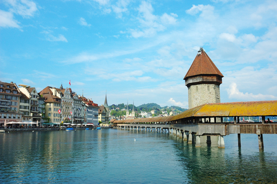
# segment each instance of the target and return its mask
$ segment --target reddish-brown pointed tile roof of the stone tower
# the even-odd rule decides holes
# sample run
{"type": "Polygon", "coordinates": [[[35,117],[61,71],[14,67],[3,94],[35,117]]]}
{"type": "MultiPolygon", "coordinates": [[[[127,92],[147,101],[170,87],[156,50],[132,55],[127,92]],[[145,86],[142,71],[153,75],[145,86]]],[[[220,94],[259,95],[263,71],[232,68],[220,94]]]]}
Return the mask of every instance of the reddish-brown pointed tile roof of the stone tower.
{"type": "Polygon", "coordinates": [[[203,48],[200,48],[198,51],[197,56],[184,77],[184,80],[186,80],[187,77],[195,75],[220,75],[224,77],[203,48]]]}

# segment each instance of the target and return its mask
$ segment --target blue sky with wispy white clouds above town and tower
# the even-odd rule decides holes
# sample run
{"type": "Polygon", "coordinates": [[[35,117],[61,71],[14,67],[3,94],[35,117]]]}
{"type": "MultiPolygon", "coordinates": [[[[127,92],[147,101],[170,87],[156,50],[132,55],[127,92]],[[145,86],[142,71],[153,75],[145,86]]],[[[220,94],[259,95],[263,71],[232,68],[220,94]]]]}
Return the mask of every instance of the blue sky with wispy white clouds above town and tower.
{"type": "Polygon", "coordinates": [[[0,2],[0,80],[69,87],[104,104],[188,108],[199,47],[221,102],[277,100],[277,1],[0,2]]]}

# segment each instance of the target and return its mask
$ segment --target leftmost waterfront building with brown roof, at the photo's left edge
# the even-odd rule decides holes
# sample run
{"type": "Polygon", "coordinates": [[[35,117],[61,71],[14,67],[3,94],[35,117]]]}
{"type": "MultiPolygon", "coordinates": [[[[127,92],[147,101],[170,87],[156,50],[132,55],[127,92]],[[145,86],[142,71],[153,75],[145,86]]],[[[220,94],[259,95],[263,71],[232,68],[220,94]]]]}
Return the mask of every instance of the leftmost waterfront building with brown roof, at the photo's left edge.
{"type": "Polygon", "coordinates": [[[16,83],[0,81],[0,123],[11,121],[22,121],[19,113],[19,102],[21,93],[16,83]]]}

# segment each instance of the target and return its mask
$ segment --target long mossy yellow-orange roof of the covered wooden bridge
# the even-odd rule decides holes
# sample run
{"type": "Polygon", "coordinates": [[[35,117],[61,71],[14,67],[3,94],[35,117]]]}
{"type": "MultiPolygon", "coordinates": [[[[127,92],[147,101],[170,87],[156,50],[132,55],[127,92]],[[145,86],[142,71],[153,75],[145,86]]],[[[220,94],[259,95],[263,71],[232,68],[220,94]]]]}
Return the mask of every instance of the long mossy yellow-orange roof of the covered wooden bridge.
{"type": "Polygon", "coordinates": [[[116,120],[114,123],[170,122],[190,117],[277,116],[277,101],[203,104],[176,116],[116,120]]]}

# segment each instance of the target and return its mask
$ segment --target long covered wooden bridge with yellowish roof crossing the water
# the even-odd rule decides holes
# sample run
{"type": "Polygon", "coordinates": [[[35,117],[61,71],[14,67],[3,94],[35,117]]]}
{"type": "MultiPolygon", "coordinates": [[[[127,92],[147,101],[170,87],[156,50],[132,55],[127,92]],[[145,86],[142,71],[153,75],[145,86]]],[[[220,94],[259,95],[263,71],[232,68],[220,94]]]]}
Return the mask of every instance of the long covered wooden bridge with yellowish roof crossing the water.
{"type": "Polygon", "coordinates": [[[225,148],[224,136],[238,134],[241,146],[240,134],[256,134],[263,149],[262,135],[277,134],[277,124],[265,120],[270,116],[277,116],[277,101],[204,104],[176,116],[115,120],[113,124],[116,129],[172,133],[196,147],[201,146],[200,137],[209,144],[211,136],[218,136],[218,147],[225,148]],[[228,117],[234,122],[223,121],[228,117]],[[262,121],[239,122],[239,117],[261,117],[262,121]]]}

